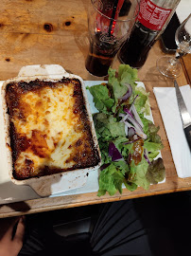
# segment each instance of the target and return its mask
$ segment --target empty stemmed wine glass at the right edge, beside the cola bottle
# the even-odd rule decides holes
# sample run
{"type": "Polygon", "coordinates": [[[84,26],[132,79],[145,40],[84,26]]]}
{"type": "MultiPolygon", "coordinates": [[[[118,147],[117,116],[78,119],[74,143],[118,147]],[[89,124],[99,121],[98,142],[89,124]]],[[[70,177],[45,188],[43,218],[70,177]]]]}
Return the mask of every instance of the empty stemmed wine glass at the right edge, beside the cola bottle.
{"type": "Polygon", "coordinates": [[[175,33],[177,50],[174,57],[162,57],[157,60],[158,70],[167,78],[177,78],[181,75],[180,58],[191,53],[191,13],[177,28],[175,33]]]}

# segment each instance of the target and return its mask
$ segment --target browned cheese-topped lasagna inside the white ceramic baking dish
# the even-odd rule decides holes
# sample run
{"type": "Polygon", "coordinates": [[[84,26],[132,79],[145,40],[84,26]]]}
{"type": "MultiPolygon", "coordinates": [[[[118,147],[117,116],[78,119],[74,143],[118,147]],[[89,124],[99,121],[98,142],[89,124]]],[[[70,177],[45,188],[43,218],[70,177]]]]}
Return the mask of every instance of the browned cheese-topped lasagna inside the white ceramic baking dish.
{"type": "Polygon", "coordinates": [[[78,79],[9,82],[6,102],[15,179],[95,167],[100,162],[78,79]]]}

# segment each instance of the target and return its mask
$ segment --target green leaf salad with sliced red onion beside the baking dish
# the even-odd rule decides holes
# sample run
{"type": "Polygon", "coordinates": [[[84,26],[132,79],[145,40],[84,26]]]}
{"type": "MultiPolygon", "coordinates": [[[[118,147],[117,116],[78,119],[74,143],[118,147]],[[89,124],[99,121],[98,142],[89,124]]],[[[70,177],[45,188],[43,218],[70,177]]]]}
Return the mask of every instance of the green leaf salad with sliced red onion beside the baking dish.
{"type": "Polygon", "coordinates": [[[163,148],[159,127],[146,117],[150,114],[148,93],[137,86],[137,70],[121,64],[109,69],[108,83],[88,87],[98,113],[93,115],[101,151],[98,196],[122,193],[123,184],[131,192],[138,186],[165,179],[163,148]]]}

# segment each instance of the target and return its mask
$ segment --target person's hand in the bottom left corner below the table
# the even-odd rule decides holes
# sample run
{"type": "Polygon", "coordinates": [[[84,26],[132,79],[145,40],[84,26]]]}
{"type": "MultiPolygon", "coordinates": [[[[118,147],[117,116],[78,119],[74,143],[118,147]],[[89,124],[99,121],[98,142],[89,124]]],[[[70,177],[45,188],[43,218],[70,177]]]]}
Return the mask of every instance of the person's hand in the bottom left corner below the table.
{"type": "Polygon", "coordinates": [[[17,256],[23,247],[25,217],[0,219],[0,256],[17,256]]]}

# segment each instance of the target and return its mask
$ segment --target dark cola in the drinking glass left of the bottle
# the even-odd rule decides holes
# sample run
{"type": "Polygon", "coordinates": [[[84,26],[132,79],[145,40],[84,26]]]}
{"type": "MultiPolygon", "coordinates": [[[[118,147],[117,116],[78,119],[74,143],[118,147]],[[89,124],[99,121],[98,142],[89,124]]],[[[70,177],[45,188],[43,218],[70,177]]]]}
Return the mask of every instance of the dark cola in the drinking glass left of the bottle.
{"type": "MultiPolygon", "coordinates": [[[[112,36],[113,37],[113,36],[112,36]]],[[[102,33],[96,33],[91,39],[90,49],[85,67],[94,76],[108,75],[108,69],[113,63],[113,58],[118,50],[118,43],[114,38],[104,38],[102,33]]]]}

